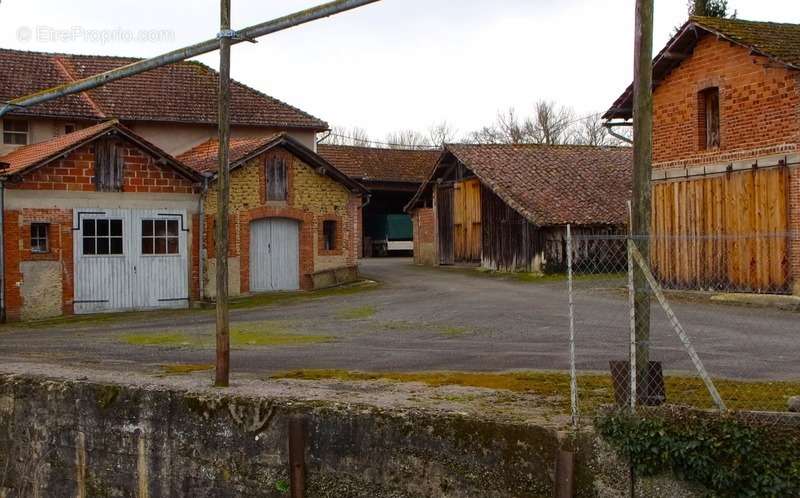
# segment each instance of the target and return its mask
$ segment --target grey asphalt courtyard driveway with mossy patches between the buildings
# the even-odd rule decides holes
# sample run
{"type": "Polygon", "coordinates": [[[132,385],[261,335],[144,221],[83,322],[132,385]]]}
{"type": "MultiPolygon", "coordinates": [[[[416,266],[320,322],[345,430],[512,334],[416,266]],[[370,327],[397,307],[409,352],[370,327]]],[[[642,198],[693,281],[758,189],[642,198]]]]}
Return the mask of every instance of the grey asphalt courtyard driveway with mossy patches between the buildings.
{"type": "MultiPolygon", "coordinates": [[[[525,282],[468,269],[415,267],[407,259],[362,262],[380,284],[259,308],[234,310],[234,371],[505,371],[568,368],[563,281],[525,282]]],[[[578,367],[607,371],[626,359],[622,293],[578,282],[578,367]]],[[[800,379],[800,314],[705,302],[674,308],[715,376],[800,379]]],[[[653,358],[691,366],[660,309],[653,308],[653,358]]],[[[0,328],[0,361],[152,371],[213,362],[213,311],[184,311],[47,326],[0,328]]]]}

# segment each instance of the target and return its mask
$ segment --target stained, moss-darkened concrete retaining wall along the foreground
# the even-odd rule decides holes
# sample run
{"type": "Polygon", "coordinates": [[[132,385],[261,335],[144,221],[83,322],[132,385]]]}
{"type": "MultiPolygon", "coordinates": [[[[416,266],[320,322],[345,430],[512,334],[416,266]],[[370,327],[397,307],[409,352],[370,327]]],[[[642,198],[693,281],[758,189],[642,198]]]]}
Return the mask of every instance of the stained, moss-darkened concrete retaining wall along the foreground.
{"type": "Polygon", "coordinates": [[[552,496],[559,443],[540,427],[10,375],[0,496],[287,496],[292,417],[309,498],[552,496]]]}

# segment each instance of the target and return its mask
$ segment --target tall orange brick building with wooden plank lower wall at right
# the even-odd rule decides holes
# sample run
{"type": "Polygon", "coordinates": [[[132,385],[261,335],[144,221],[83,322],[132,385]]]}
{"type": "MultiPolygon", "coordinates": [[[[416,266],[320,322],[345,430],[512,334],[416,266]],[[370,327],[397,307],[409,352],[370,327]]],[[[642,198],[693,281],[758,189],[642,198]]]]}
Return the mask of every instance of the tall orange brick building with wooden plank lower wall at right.
{"type": "MultiPolygon", "coordinates": [[[[653,80],[662,280],[800,293],[800,25],[692,17],[653,80]]],[[[632,98],[605,119],[630,120],[632,98]]]]}

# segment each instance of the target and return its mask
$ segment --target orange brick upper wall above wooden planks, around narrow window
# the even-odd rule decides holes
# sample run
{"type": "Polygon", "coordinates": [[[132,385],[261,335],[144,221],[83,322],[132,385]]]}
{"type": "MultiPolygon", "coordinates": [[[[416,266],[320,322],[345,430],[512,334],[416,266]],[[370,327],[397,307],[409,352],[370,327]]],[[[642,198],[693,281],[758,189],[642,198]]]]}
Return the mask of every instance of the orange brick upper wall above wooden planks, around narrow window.
{"type": "Polygon", "coordinates": [[[653,94],[655,167],[800,142],[800,73],[766,62],[713,36],[700,40],[653,94]],[[709,87],[719,88],[721,145],[706,151],[698,94],[709,87]]]}

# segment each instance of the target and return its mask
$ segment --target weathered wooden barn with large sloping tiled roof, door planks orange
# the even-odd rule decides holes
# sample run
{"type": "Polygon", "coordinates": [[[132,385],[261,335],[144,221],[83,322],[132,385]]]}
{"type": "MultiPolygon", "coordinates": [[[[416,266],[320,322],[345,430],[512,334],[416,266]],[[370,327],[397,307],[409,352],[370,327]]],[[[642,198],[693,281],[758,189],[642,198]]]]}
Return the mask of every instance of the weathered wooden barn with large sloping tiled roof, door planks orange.
{"type": "MultiPolygon", "coordinates": [[[[567,225],[587,236],[624,229],[631,161],[629,147],[446,145],[407,206],[415,261],[562,270],[567,225]]],[[[589,259],[624,256],[624,243],[602,249],[603,255],[574,252],[589,259]]]]}

